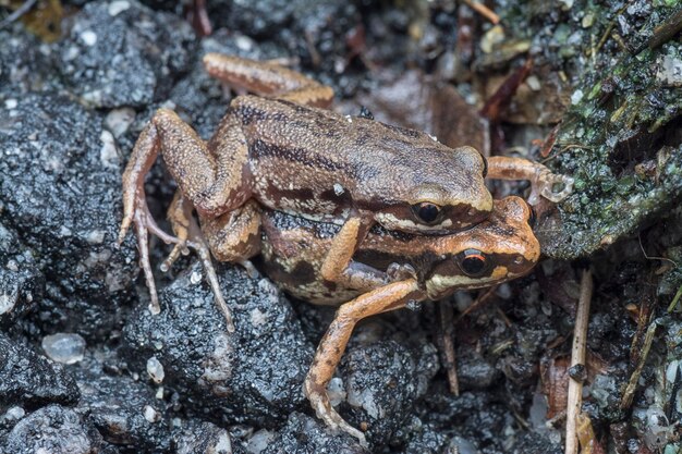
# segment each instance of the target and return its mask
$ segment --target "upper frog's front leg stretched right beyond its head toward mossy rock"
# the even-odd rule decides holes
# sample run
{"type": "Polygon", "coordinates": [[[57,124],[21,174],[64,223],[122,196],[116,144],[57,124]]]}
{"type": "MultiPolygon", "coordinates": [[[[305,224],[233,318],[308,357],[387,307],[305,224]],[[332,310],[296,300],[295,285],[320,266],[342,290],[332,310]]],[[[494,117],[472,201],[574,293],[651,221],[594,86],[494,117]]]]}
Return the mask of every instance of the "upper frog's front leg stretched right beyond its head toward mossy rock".
{"type": "Polygon", "coordinates": [[[539,196],[558,203],[573,191],[573,179],[552,173],[547,167],[524,158],[492,156],[488,158],[488,179],[528,180],[532,185],[528,204],[537,205],[539,196]]]}

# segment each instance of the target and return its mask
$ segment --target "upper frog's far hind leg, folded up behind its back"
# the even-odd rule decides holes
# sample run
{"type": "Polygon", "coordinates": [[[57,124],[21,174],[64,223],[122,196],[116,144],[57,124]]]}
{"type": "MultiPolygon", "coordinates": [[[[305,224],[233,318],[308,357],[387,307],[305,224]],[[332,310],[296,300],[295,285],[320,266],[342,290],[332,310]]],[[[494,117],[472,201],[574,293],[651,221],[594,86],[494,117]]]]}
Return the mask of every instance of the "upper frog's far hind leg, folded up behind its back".
{"type": "Polygon", "coordinates": [[[212,77],[260,96],[321,108],[329,108],[333,100],[331,87],[271,62],[207,53],[204,66],[212,77]]]}

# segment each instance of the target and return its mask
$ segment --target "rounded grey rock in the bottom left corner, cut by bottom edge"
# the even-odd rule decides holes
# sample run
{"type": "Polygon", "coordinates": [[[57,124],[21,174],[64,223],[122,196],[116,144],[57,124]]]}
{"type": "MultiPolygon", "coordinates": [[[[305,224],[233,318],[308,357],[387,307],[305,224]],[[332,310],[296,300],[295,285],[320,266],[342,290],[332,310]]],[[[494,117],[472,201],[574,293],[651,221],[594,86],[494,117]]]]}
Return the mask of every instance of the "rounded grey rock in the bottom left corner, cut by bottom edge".
{"type": "Polygon", "coordinates": [[[49,405],[19,421],[0,451],[8,454],[96,454],[103,452],[100,447],[101,437],[97,430],[83,424],[74,410],[49,405]]]}

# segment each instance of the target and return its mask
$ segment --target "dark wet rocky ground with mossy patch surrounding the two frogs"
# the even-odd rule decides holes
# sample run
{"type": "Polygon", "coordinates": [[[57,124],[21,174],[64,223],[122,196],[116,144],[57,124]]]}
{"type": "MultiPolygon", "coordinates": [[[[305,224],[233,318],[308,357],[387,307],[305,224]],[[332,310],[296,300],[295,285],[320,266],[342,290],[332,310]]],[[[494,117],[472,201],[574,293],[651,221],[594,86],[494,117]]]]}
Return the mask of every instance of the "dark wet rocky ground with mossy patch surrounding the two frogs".
{"type": "MultiPolygon", "coordinates": [[[[0,0],[0,17],[19,3],[0,0]]],[[[38,2],[0,29],[0,453],[560,453],[586,268],[595,442],[679,452],[682,318],[668,307],[682,285],[678,2],[500,1],[499,27],[447,0],[210,3],[207,37],[176,2],[153,0],[38,2]],[[157,277],[151,316],[132,235],[114,245],[120,175],[153,112],[171,107],[205,138],[224,113],[229,94],[200,65],[212,51],[284,59],[334,87],[340,112],[364,106],[576,180],[539,211],[546,259],[455,316],[459,396],[438,305],[356,330],[332,384],[368,449],[329,432],[302,394],[332,310],[221,266],[238,320],[227,335],[186,258],[157,277]],[[524,65],[515,94],[495,95],[524,65]]],[[[173,187],[156,167],[159,220],[173,187]]],[[[154,244],[154,263],[167,253],[154,244]]],[[[441,304],[456,314],[476,296],[441,304]]]]}

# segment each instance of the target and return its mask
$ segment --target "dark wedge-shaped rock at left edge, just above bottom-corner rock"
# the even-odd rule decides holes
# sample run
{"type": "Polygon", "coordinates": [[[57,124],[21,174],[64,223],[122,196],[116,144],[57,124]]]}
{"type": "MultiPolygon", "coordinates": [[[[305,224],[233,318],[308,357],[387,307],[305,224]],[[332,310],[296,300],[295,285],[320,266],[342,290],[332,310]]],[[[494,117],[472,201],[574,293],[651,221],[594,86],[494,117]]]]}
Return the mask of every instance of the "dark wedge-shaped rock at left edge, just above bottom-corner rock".
{"type": "Polygon", "coordinates": [[[0,409],[71,405],[78,396],[73,377],[61,365],[0,333],[0,409]]]}

